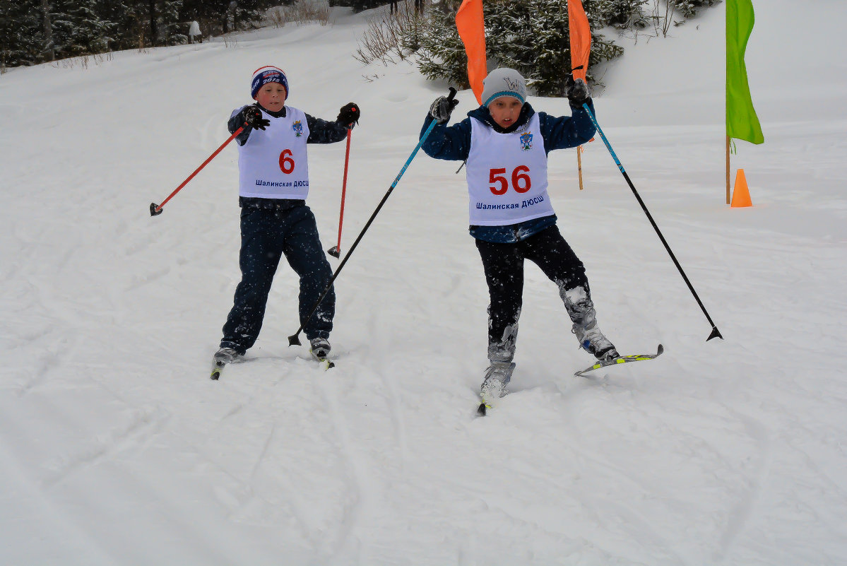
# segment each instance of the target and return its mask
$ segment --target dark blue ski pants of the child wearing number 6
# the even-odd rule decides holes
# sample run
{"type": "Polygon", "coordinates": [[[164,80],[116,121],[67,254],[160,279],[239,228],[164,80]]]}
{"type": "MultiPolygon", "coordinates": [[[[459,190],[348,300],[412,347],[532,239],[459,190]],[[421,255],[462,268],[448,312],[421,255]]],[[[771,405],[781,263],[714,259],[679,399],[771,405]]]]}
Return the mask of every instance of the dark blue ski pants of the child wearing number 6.
{"type": "MultiPolygon", "coordinates": [[[[312,210],[305,204],[286,210],[241,208],[241,283],[235,289],[221,347],[231,347],[243,355],[256,343],[268,292],[282,256],[300,277],[302,324],[332,279],[312,210]]],[[[330,289],[303,327],[306,337],[328,338],[334,316],[335,290],[330,289]]]]}

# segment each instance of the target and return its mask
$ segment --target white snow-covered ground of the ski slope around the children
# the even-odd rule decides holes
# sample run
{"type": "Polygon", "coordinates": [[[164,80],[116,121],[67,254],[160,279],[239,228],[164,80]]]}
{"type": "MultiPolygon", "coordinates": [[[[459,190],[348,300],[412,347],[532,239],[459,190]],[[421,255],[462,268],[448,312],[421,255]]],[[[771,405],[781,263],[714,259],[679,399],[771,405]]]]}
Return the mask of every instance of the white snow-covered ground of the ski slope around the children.
{"type": "MultiPolygon", "coordinates": [[[[847,563],[847,6],[804,6],[756,3],[766,143],[733,160],[753,208],[723,203],[723,8],[621,39],[596,99],[726,340],[705,341],[601,142],[584,191],[575,153],[552,153],[606,335],[667,352],[574,378],[591,360],[528,265],[512,393],[484,419],[487,296],[457,164],[420,154],[341,273],[327,373],[287,346],[280,268],[250,361],[208,380],[240,277],[235,147],[148,214],[278,64],[292,106],[363,109],[349,247],[447,86],[358,64],[367,14],[0,76],[0,563],[847,563]]],[[[310,148],[324,247],[343,156],[310,148]]]]}

